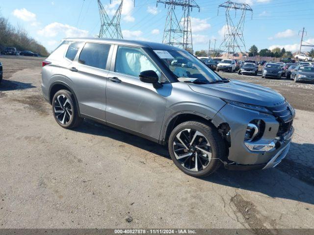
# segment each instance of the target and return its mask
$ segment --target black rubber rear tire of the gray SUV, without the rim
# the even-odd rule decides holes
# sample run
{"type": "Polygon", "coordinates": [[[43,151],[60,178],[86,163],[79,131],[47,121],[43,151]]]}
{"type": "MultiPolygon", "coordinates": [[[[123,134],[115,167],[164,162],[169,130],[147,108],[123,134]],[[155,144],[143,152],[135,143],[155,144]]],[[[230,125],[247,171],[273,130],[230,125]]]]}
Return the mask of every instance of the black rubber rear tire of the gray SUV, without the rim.
{"type": "Polygon", "coordinates": [[[71,129],[71,128],[77,127],[83,120],[83,118],[80,118],[79,115],[78,115],[78,104],[75,101],[74,95],[71,92],[67,91],[67,90],[60,90],[56,94],[54,94],[54,96],[52,98],[52,115],[53,115],[54,119],[56,120],[56,122],[60,126],[62,126],[63,128],[66,128],[66,129],[71,129]],[[71,106],[70,110],[71,110],[72,116],[70,116],[70,115],[66,116],[66,113],[69,113],[69,109],[68,109],[68,111],[66,111],[67,108],[65,108],[64,106],[62,108],[62,110],[64,110],[64,116],[66,116],[65,119],[66,118],[69,119],[68,121],[65,121],[64,123],[62,123],[62,121],[60,121],[57,118],[57,113],[55,111],[55,103],[57,103],[56,99],[60,95],[61,95],[61,97],[64,96],[63,99],[67,98],[68,101],[65,101],[65,103],[70,103],[70,106],[71,106]]]}

